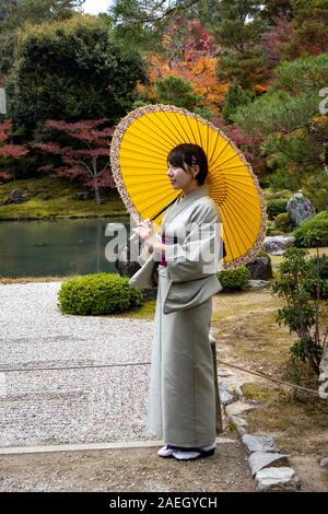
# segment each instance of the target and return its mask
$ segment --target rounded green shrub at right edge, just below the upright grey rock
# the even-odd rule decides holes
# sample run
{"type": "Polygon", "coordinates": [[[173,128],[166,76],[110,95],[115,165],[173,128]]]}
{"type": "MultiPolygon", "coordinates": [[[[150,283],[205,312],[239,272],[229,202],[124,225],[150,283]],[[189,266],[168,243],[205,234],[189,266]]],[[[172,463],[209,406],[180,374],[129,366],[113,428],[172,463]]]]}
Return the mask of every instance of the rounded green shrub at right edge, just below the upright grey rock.
{"type": "Polygon", "coordinates": [[[328,215],[319,212],[311,220],[304,221],[294,230],[295,246],[300,248],[314,248],[328,246],[328,215]]]}

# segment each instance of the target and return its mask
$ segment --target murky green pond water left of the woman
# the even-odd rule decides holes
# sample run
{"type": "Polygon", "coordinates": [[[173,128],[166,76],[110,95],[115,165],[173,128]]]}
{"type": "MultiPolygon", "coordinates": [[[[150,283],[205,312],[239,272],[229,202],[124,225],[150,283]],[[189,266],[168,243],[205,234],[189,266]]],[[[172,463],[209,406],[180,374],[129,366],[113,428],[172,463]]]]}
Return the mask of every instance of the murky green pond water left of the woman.
{"type": "Polygon", "coordinates": [[[46,277],[115,272],[105,258],[108,223],[129,218],[0,222],[0,276],[46,277]]]}

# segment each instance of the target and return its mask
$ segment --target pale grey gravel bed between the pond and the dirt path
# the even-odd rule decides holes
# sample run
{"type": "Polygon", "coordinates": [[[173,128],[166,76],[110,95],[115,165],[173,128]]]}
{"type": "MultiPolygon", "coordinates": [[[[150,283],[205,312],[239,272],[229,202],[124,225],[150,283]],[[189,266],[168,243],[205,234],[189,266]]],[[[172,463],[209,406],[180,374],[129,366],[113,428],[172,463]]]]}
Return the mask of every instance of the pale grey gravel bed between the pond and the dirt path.
{"type": "Polygon", "coordinates": [[[0,285],[0,446],[148,439],[151,322],[68,316],[60,283],[0,285]]]}

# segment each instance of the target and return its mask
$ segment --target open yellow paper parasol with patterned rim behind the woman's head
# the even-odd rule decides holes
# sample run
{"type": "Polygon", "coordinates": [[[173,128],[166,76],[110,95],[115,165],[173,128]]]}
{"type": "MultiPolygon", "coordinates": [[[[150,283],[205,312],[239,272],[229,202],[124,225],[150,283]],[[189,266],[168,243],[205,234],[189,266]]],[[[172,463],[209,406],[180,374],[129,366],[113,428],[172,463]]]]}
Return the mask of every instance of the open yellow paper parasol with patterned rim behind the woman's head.
{"type": "Polygon", "coordinates": [[[204,186],[223,223],[223,267],[254,260],[267,220],[258,179],[243,153],[218,127],[186,109],[149,105],[131,112],[117,126],[110,148],[112,171],[129,212],[136,220],[154,219],[177,197],[167,177],[167,155],[180,143],[199,144],[207,154],[204,186]]]}

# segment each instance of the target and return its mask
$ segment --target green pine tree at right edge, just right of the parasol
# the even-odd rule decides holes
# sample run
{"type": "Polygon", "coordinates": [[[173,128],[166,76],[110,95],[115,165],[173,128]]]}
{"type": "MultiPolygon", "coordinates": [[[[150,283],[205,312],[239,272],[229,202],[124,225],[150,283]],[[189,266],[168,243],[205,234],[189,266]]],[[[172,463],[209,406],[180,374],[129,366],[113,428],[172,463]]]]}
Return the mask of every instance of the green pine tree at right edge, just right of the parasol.
{"type": "Polygon", "coordinates": [[[261,141],[261,155],[274,172],[270,184],[297,190],[319,175],[325,209],[328,125],[319,112],[319,92],[327,82],[328,52],[282,62],[268,93],[233,115],[244,135],[261,141]]]}

